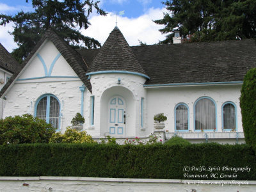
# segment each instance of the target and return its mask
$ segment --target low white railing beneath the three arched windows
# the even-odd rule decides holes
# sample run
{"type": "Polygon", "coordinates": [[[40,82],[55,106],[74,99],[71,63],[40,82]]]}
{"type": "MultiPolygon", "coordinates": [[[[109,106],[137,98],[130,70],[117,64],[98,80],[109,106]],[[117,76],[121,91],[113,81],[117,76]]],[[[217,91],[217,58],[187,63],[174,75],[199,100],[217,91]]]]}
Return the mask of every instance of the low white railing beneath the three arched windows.
{"type": "Polygon", "coordinates": [[[184,139],[236,139],[244,138],[244,132],[166,132],[166,138],[180,136],[184,139]]]}

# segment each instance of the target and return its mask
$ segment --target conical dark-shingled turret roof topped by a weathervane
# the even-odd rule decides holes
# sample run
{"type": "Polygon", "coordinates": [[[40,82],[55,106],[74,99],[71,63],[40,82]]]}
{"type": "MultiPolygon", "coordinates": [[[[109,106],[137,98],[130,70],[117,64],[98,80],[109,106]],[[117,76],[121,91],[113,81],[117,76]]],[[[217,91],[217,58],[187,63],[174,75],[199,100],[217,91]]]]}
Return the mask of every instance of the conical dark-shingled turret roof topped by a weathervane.
{"type": "Polygon", "coordinates": [[[146,75],[124,35],[117,27],[109,34],[87,73],[101,71],[128,71],[146,75]]]}

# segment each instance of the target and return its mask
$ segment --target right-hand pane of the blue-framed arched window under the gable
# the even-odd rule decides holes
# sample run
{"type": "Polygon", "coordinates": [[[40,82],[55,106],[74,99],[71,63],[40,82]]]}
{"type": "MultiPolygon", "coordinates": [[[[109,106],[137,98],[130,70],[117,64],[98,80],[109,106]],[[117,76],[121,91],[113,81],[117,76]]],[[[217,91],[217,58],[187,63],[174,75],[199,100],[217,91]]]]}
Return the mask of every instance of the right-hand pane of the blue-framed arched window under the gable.
{"type": "Polygon", "coordinates": [[[58,129],[59,127],[59,116],[60,116],[60,105],[57,99],[50,97],[50,111],[49,111],[49,123],[52,127],[58,129]]]}

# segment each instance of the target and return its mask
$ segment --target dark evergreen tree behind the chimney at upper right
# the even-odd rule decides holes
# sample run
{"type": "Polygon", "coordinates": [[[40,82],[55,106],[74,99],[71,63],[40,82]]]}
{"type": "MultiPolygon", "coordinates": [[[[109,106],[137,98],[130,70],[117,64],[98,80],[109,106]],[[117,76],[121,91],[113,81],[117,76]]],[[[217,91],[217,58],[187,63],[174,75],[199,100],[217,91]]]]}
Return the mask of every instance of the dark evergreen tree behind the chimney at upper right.
{"type": "Polygon", "coordinates": [[[172,43],[174,30],[187,42],[236,40],[256,37],[255,0],[172,0],[163,2],[168,10],[154,20],[168,34],[160,44],[172,43]]]}

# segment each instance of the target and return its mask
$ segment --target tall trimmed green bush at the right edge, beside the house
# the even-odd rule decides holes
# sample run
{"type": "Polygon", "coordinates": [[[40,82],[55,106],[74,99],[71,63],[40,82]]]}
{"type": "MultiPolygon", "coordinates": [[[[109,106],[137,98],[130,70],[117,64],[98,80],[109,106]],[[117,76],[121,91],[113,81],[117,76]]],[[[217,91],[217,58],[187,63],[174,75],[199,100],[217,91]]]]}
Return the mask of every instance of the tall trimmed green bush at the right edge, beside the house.
{"type": "MultiPolygon", "coordinates": [[[[256,146],[256,68],[244,77],[241,89],[240,108],[244,129],[244,139],[250,146],[256,146]]],[[[255,148],[256,150],[256,148],[255,148]]]]}

